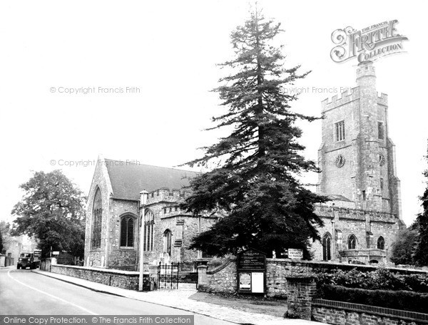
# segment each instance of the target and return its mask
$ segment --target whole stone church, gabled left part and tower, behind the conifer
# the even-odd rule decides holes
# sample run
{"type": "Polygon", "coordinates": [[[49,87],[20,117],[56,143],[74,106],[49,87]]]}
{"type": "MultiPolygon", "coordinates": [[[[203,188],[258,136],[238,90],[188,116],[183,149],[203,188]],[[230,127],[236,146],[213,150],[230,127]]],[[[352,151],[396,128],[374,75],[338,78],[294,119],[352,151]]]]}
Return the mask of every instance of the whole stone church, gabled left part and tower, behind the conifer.
{"type": "MultiPolygon", "coordinates": [[[[389,259],[394,236],[404,223],[387,108],[387,95],[377,94],[371,62],[357,67],[357,87],[322,102],[317,192],[331,201],[316,207],[325,225],[319,229],[321,242],[312,244],[315,260],[374,264],[389,259]]],[[[188,246],[220,216],[180,210],[189,195],[182,189],[194,176],[185,170],[98,158],[88,194],[85,266],[138,269],[141,226],[147,264],[191,264],[204,257],[188,246]],[[142,190],[149,192],[144,216],[142,190]]]]}

